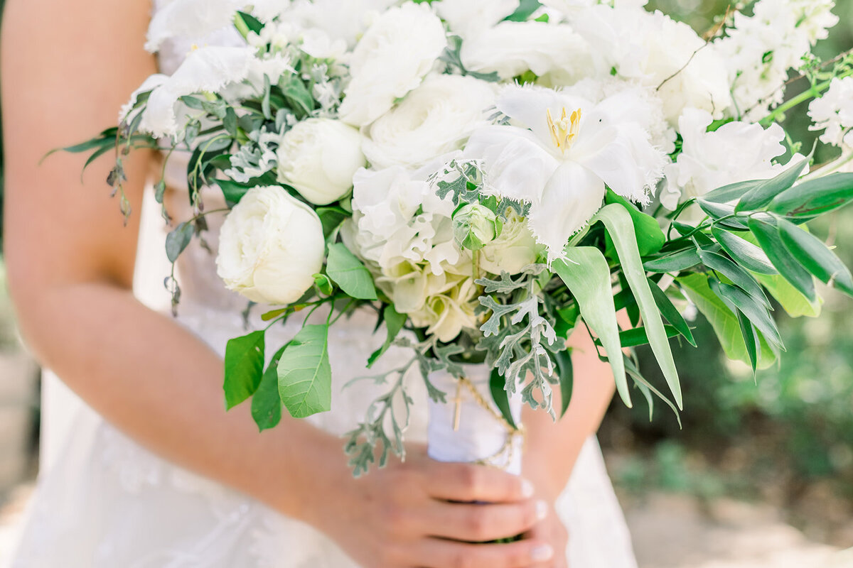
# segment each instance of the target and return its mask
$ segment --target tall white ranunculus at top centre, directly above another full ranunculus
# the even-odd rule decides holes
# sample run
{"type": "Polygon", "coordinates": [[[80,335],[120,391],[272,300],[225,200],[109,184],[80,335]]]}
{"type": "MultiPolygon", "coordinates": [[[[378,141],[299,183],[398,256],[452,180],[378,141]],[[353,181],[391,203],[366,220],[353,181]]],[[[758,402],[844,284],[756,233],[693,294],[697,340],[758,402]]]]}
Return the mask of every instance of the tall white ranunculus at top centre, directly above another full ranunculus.
{"type": "Polygon", "coordinates": [[[444,24],[427,4],[388,9],[353,50],[341,120],[364,126],[380,118],[421,84],[446,47],[444,24]]]}

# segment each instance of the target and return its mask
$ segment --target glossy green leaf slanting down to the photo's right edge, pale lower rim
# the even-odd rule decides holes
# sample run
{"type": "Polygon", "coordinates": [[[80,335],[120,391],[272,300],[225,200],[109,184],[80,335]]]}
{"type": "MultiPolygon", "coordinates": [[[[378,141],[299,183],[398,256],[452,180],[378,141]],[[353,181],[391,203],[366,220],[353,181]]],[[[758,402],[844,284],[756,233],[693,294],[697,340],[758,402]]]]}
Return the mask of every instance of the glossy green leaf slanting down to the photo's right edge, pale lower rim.
{"type": "Polygon", "coordinates": [[[777,222],[785,248],[809,273],[821,282],[853,296],[853,277],[850,276],[850,269],[844,266],[844,262],[838,259],[820,238],[805,232],[790,221],[779,219],[777,222]]]}

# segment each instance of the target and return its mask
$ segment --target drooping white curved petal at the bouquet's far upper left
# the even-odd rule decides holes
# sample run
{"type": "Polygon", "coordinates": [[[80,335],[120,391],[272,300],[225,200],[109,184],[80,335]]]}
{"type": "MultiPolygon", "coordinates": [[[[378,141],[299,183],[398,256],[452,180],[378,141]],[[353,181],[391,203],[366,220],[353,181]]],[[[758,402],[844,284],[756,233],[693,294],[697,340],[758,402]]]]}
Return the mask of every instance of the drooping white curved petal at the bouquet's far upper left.
{"type": "Polygon", "coordinates": [[[249,76],[257,59],[250,47],[205,47],[194,49],[171,77],[155,87],[139,123],[142,132],[154,137],[176,136],[177,106],[183,95],[204,91],[218,92],[249,76]]]}

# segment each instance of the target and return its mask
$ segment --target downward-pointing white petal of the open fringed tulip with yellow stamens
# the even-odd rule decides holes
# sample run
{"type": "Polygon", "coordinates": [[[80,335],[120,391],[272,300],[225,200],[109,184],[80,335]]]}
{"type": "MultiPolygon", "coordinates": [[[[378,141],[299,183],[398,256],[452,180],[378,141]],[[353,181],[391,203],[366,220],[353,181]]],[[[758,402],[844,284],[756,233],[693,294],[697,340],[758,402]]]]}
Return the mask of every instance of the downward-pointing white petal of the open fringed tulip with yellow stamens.
{"type": "Polygon", "coordinates": [[[548,261],[560,258],[569,238],[601,209],[603,199],[604,182],[589,169],[566,162],[554,172],[529,217],[537,241],[548,248],[548,261]]]}

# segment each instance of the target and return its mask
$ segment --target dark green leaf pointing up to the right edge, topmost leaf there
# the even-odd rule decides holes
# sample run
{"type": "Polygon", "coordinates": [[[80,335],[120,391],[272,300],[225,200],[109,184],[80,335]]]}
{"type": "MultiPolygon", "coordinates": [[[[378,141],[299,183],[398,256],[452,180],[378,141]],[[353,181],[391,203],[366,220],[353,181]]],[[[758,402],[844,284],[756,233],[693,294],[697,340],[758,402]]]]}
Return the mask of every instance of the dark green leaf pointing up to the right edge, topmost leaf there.
{"type": "Polygon", "coordinates": [[[853,173],[804,181],[777,195],[769,210],[792,217],[816,217],[853,201],[853,173]]]}

